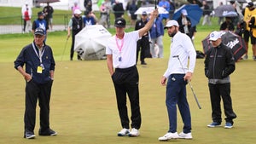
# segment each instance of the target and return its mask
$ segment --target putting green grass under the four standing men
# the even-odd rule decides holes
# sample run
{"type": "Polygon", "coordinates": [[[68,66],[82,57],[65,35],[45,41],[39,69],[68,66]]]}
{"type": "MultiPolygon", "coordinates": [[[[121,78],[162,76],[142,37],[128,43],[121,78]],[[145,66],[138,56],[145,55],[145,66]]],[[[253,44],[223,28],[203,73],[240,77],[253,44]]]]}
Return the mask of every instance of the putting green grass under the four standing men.
{"type": "MultiPolygon", "coordinates": [[[[209,32],[198,32],[195,47],[201,50],[201,39],[209,32]]],[[[108,73],[106,60],[69,61],[71,39],[67,32],[52,32],[47,43],[54,50],[56,67],[55,82],[50,101],[50,127],[57,136],[38,136],[39,121],[35,128],[36,139],[26,140],[23,136],[25,81],[14,69],[16,56],[23,46],[32,42],[32,36],[17,35],[0,37],[0,143],[4,144],[155,144],[158,137],[166,134],[168,118],[165,104],[166,87],[160,86],[160,78],[166,71],[170,38],[165,36],[165,57],[146,59],[147,66],[138,65],[140,73],[140,103],[143,124],[137,138],[118,137],[121,130],[113,83],[108,73]]],[[[249,49],[251,54],[251,49],[249,49]]],[[[187,86],[192,115],[193,140],[174,140],[170,143],[189,144],[253,144],[255,133],[255,65],[250,57],[236,63],[231,75],[231,97],[237,114],[234,128],[207,128],[211,123],[211,106],[204,76],[204,59],[197,59],[191,84],[201,103],[199,109],[192,92],[187,86]]],[[[129,105],[129,102],[128,102],[129,105]]],[[[37,111],[37,115],[39,108],[37,111]]],[[[131,116],[130,107],[129,114],[131,116]]],[[[177,131],[183,124],[177,112],[177,131]]],[[[223,113],[224,119],[224,113],[223,113]]],[[[224,124],[224,123],[223,123],[224,124]]]]}

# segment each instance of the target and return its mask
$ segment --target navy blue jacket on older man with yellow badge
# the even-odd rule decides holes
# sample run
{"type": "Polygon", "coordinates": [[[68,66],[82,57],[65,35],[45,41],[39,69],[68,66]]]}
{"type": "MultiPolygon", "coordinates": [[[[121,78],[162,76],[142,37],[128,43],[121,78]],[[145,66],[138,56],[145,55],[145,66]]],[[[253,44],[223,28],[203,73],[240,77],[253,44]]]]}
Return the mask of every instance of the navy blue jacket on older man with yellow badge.
{"type": "Polygon", "coordinates": [[[33,42],[21,50],[20,55],[18,55],[17,59],[15,60],[15,69],[18,69],[18,66],[23,67],[26,65],[25,71],[32,76],[33,82],[36,84],[45,84],[51,80],[49,71],[55,70],[55,60],[52,49],[48,45],[44,44],[44,54],[42,56],[44,70],[42,73],[38,73],[37,69],[38,66],[40,66],[40,59],[33,49],[34,46],[38,53],[38,48],[35,45],[36,44],[33,42]]]}

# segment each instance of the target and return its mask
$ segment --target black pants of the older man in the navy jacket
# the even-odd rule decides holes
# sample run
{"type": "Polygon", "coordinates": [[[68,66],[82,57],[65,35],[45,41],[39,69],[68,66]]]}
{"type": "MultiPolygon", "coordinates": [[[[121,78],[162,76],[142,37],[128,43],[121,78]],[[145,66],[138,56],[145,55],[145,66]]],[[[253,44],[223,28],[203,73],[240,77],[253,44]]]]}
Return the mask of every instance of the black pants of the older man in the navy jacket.
{"type": "Polygon", "coordinates": [[[52,82],[36,84],[31,80],[26,83],[26,109],[24,115],[26,131],[34,131],[38,101],[40,107],[40,129],[42,131],[49,129],[49,100],[52,82]]]}

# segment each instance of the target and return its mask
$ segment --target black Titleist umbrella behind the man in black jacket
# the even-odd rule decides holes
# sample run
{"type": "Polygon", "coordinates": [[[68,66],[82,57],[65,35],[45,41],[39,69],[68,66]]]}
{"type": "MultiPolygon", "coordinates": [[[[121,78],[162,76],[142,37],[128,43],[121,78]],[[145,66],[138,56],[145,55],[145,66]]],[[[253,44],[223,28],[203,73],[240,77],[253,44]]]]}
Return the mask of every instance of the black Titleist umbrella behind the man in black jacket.
{"type": "MultiPolygon", "coordinates": [[[[246,44],[244,40],[236,35],[233,32],[230,31],[222,31],[221,39],[222,43],[224,45],[230,47],[232,49],[232,52],[235,56],[235,60],[239,60],[242,55],[244,55],[247,50],[246,50],[246,44]]],[[[207,50],[211,48],[211,43],[209,41],[210,35],[208,35],[205,39],[201,41],[204,53],[206,54],[207,50]]]]}

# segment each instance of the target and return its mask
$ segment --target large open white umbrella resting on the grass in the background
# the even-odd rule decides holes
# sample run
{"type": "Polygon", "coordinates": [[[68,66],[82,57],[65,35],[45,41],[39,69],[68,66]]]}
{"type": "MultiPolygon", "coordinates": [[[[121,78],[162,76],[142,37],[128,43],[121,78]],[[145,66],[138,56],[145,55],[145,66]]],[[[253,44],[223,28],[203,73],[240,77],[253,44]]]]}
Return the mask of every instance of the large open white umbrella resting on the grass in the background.
{"type": "Polygon", "coordinates": [[[84,60],[100,60],[106,53],[111,33],[102,25],[85,26],[75,36],[74,51],[84,60]]]}

